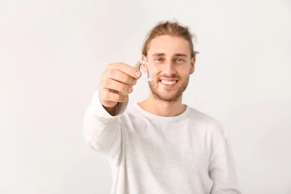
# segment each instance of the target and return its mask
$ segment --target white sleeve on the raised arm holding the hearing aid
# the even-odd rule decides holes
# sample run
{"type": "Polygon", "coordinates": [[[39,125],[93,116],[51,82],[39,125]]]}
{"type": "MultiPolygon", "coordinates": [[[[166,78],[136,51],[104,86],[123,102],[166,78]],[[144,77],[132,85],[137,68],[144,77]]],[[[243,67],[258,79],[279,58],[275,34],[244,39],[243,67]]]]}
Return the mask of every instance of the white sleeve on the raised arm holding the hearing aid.
{"type": "Polygon", "coordinates": [[[121,130],[119,117],[125,112],[129,102],[117,104],[115,116],[109,114],[102,106],[98,91],[84,114],[83,135],[87,146],[108,157],[119,154],[121,147],[121,130]]]}

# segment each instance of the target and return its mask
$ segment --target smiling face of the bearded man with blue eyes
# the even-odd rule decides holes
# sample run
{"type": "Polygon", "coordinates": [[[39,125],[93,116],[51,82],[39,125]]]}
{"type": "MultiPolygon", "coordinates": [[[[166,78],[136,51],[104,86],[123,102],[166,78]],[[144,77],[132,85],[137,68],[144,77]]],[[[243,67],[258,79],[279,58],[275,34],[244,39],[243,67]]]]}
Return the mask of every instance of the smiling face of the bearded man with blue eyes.
{"type": "Polygon", "coordinates": [[[149,63],[153,77],[148,82],[152,95],[163,101],[178,100],[194,72],[195,58],[191,58],[189,42],[178,36],[158,36],[150,42],[143,60],[149,63]]]}

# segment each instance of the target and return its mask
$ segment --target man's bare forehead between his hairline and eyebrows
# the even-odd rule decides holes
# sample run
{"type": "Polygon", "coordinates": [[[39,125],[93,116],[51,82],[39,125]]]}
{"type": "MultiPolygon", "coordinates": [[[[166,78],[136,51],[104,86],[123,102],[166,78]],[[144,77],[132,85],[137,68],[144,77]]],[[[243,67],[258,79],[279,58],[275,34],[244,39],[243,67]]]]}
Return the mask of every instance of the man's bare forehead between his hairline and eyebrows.
{"type": "Polygon", "coordinates": [[[161,35],[151,40],[147,53],[149,56],[155,53],[165,53],[167,56],[183,53],[190,57],[191,49],[189,42],[183,37],[161,35]]]}

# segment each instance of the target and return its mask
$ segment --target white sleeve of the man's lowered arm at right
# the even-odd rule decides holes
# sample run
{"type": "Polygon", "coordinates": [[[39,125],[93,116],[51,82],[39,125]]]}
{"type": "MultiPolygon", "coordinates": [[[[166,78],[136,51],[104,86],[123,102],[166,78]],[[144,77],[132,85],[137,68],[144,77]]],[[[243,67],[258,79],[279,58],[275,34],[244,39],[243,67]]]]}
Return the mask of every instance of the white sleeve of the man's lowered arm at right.
{"type": "Polygon", "coordinates": [[[209,175],[213,181],[211,194],[241,194],[230,142],[221,128],[214,136],[213,156],[209,164],[209,175]]]}

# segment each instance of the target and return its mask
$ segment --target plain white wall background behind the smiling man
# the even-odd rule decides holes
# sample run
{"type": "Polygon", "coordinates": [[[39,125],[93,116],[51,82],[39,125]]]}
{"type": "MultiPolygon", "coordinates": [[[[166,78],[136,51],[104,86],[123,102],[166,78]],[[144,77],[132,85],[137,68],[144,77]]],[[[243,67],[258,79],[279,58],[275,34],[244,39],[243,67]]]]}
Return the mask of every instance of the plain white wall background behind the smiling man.
{"type": "MultiPolygon", "coordinates": [[[[110,193],[84,111],[172,18],[200,51],[183,103],[224,125],[242,192],[291,194],[291,0],[0,0],[0,194],[110,193]]],[[[147,94],[140,79],[130,100],[147,94]]]]}

